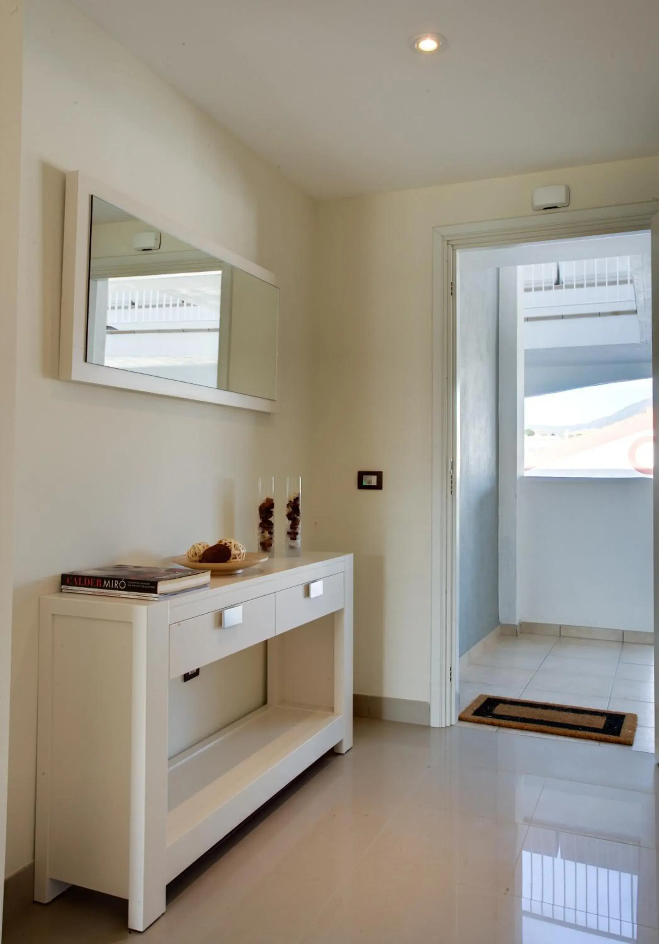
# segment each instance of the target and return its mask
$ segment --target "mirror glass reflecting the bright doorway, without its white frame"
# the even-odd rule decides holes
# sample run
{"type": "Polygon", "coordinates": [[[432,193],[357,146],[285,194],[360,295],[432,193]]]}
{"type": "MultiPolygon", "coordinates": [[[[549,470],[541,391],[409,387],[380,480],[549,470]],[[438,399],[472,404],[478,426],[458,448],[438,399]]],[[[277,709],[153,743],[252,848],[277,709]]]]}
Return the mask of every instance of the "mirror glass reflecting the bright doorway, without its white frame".
{"type": "Polygon", "coordinates": [[[279,289],[92,202],[87,361],[275,399],[279,289]]]}

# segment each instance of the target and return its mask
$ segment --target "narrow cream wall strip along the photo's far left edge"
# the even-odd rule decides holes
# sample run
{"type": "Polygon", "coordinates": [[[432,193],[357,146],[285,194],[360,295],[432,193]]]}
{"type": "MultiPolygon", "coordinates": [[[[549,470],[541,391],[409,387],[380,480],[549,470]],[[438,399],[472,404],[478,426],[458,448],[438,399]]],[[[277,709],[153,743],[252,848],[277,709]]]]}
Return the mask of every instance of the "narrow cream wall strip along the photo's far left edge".
{"type": "MultiPolygon", "coordinates": [[[[23,3],[0,0],[0,875],[7,823],[22,59],[23,3]]],[[[3,896],[0,885],[0,926],[3,896]]]]}

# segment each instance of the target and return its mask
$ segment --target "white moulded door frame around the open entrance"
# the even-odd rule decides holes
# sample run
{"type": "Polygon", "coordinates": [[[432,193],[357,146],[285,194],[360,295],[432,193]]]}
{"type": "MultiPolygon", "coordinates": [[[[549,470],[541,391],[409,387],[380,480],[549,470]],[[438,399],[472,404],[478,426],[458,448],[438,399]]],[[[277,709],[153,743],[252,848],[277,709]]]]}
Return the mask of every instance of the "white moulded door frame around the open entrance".
{"type": "MultiPolygon", "coordinates": [[[[515,219],[437,227],[432,232],[432,532],[431,532],[431,725],[455,724],[458,667],[455,254],[546,240],[574,239],[651,228],[659,200],[597,210],[548,211],[515,219]]],[[[656,270],[655,270],[656,271],[656,270]]],[[[652,337],[659,335],[659,329],[652,337]]],[[[659,337],[657,338],[659,346],[659,337]]],[[[655,362],[659,375],[659,361],[655,362]]],[[[659,387],[658,382],[655,389],[659,387]]],[[[657,417],[659,421],[659,417],[657,417]]],[[[655,598],[659,590],[656,582],[655,598]]],[[[659,604],[658,604],[659,612],[659,604]]]]}

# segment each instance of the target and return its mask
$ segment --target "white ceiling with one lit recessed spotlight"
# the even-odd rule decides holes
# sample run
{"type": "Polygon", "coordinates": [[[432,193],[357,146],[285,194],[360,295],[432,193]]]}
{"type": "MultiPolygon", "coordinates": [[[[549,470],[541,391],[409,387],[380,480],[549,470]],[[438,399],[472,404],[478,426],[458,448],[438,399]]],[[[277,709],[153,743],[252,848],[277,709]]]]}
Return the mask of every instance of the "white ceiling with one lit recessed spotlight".
{"type": "Polygon", "coordinates": [[[314,196],[659,153],[657,0],[74,2],[314,196]]]}

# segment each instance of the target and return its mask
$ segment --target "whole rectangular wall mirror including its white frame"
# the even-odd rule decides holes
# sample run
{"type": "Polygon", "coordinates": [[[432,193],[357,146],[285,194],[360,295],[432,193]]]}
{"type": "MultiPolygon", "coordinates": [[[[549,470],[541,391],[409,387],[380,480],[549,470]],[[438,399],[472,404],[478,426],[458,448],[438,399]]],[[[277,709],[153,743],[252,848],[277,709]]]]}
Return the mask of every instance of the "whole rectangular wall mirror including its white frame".
{"type": "Polygon", "coordinates": [[[60,376],[273,409],[270,273],[79,174],[64,242],[60,376]]]}

